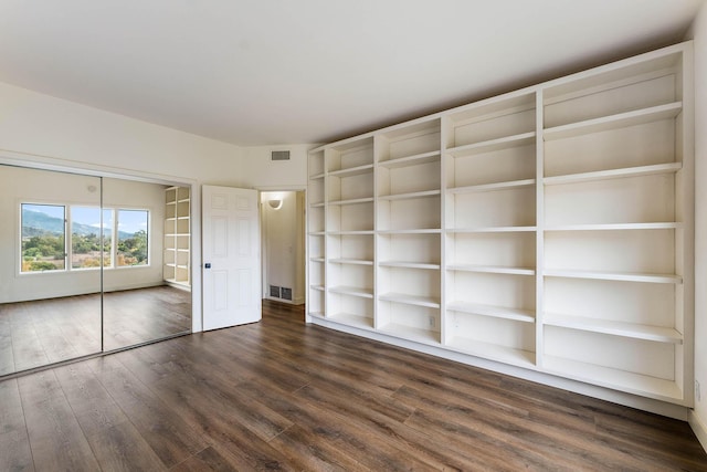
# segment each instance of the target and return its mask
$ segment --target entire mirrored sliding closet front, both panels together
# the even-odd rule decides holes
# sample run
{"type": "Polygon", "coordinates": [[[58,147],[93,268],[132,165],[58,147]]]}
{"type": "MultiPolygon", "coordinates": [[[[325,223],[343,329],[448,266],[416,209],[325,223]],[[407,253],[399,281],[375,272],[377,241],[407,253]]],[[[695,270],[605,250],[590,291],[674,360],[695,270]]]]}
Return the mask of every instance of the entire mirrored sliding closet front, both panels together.
{"type": "Polygon", "coordinates": [[[0,377],[191,332],[171,189],[0,165],[0,377]]]}

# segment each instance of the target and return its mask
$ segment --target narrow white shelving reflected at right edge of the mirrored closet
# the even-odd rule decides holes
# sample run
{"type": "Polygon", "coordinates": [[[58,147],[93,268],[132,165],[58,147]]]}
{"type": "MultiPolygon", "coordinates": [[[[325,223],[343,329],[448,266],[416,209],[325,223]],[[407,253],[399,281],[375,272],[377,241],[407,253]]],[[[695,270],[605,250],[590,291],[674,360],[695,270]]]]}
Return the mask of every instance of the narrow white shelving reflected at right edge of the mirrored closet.
{"type": "Polygon", "coordinates": [[[165,190],[162,276],[169,284],[191,285],[191,203],[188,187],[165,190]]]}

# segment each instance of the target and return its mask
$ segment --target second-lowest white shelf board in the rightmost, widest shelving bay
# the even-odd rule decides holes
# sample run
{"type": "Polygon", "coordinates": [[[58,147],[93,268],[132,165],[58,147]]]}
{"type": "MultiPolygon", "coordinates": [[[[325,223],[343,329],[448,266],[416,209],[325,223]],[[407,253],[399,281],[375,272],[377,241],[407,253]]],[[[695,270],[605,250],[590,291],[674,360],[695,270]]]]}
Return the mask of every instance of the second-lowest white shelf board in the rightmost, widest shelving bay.
{"type": "Polygon", "coordinates": [[[560,326],[564,328],[610,334],[635,339],[654,340],[656,343],[683,344],[683,335],[674,328],[560,315],[555,313],[546,313],[542,319],[544,324],[549,326],[560,326]]]}

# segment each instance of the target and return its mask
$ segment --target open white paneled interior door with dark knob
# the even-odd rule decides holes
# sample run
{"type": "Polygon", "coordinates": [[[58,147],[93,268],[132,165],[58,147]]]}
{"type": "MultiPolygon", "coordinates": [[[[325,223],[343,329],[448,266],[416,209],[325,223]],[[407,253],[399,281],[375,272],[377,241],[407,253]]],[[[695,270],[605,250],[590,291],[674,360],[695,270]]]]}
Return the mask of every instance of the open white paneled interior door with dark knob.
{"type": "Polygon", "coordinates": [[[202,187],[203,329],[261,319],[257,190],[202,187]]]}

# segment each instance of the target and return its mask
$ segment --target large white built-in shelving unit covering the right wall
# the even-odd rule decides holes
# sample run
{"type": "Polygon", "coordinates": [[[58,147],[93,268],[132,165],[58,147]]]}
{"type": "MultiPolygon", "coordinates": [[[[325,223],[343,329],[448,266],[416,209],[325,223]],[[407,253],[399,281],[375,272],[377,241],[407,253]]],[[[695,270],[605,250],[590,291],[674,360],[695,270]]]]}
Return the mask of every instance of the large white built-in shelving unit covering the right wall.
{"type": "Polygon", "coordinates": [[[692,74],[688,42],[314,149],[309,319],[690,406],[692,74]]]}

